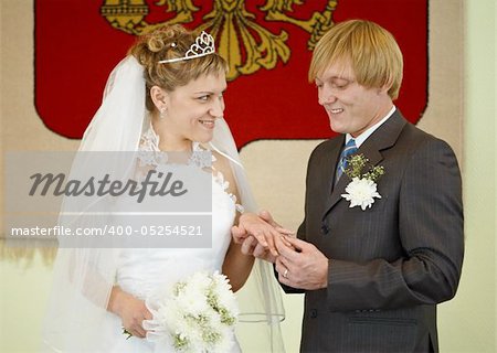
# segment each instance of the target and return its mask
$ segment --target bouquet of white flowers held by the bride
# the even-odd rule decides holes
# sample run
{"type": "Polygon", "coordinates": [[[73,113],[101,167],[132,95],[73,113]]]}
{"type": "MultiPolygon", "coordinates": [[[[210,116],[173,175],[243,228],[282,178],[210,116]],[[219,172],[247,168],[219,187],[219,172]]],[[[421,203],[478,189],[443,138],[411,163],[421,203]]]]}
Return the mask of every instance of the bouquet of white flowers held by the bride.
{"type": "MultiPolygon", "coordinates": [[[[229,352],[239,307],[226,276],[199,271],[176,282],[170,296],[148,303],[147,339],[177,352],[229,352]]],[[[156,350],[157,351],[157,350],[156,350]]]]}

